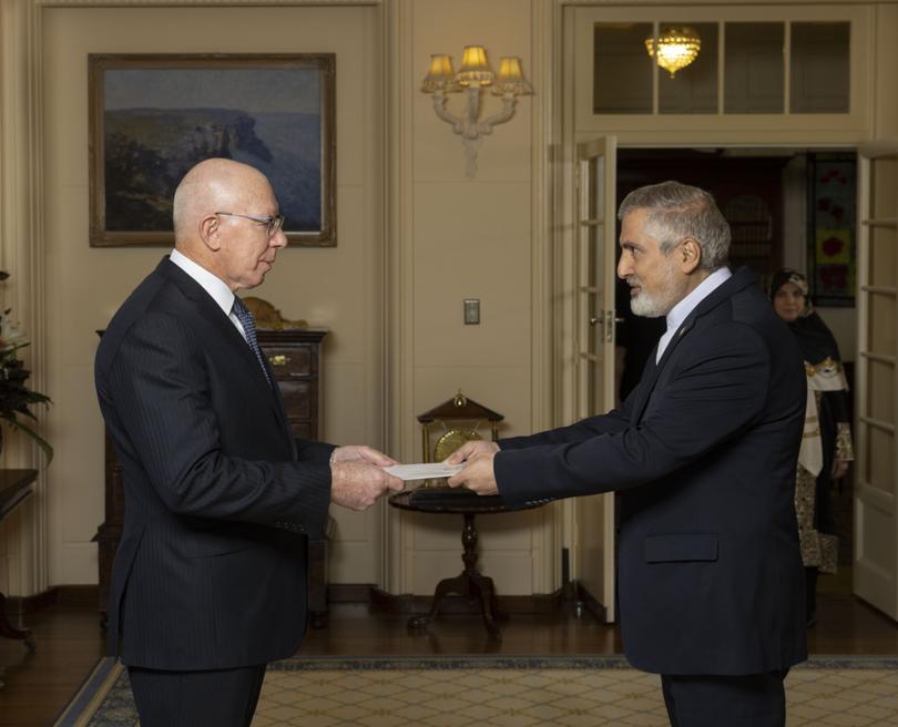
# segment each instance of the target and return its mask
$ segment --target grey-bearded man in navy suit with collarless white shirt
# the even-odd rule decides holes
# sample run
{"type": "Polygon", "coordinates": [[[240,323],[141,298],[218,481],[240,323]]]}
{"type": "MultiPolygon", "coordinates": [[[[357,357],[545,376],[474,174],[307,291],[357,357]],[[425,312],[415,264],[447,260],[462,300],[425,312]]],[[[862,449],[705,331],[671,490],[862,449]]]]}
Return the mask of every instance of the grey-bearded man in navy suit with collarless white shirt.
{"type": "Polygon", "coordinates": [[[667,322],[639,387],[570,427],[468,442],[449,484],[511,506],[620,490],[624,652],[661,675],[671,725],[783,727],[783,680],[807,655],[802,357],[752,274],[726,267],[710,194],[641,187],[619,217],[632,310],[667,322]]]}

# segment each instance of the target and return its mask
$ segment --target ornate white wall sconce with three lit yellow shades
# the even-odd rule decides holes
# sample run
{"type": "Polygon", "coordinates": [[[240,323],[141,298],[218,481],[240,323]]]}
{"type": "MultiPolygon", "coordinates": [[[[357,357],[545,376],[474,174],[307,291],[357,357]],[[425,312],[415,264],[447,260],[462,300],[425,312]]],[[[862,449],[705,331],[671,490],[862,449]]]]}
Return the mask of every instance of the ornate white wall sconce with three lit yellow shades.
{"type": "Polygon", "coordinates": [[[461,59],[461,69],[452,70],[451,55],[431,55],[430,70],[421,84],[421,91],[433,94],[433,111],[446,123],[452,124],[452,131],[461,136],[465,155],[468,161],[467,175],[473,180],[477,175],[477,152],[483,143],[483,136],[492,133],[492,127],[503,124],[514,115],[517,98],[533,93],[533,88],[523,78],[521,59],[506,57],[499,61],[499,75],[496,75],[487,60],[482,45],[466,45],[461,59]],[[492,86],[490,92],[502,98],[502,110],[483,121],[480,117],[480,88],[492,86]],[[467,94],[465,114],[456,116],[447,107],[447,94],[467,94]]]}

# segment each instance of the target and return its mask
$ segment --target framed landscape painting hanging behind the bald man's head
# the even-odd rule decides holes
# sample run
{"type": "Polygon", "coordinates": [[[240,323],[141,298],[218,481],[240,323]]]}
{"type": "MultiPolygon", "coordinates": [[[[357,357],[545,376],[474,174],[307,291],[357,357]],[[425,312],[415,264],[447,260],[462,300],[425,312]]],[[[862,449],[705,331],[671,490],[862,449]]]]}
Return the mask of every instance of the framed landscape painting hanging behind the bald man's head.
{"type": "Polygon", "coordinates": [[[175,187],[216,156],[268,177],[292,245],[336,245],[333,53],[91,54],[88,70],[92,247],[173,245],[175,187]]]}

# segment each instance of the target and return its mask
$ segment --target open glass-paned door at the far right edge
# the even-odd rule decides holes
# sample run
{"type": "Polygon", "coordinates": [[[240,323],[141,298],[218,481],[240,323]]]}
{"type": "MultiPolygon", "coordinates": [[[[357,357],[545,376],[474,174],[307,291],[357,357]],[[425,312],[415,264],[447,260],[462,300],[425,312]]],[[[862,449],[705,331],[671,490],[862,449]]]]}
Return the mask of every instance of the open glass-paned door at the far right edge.
{"type": "Polygon", "coordinates": [[[855,593],[898,620],[898,140],[858,150],[855,593]]]}

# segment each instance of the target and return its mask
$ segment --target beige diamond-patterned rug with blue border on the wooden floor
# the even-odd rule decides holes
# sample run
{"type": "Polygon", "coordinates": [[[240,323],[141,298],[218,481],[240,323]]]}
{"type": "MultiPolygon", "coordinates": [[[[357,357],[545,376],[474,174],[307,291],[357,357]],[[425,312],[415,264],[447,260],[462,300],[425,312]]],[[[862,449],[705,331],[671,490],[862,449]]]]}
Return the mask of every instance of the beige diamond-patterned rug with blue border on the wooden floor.
{"type": "MultiPolygon", "coordinates": [[[[786,679],[788,727],[898,727],[898,658],[813,657],[786,679]]],[[[623,657],[294,658],[272,664],[253,727],[665,727],[659,677],[623,657]]],[[[135,727],[103,659],[55,727],[135,727]]]]}

